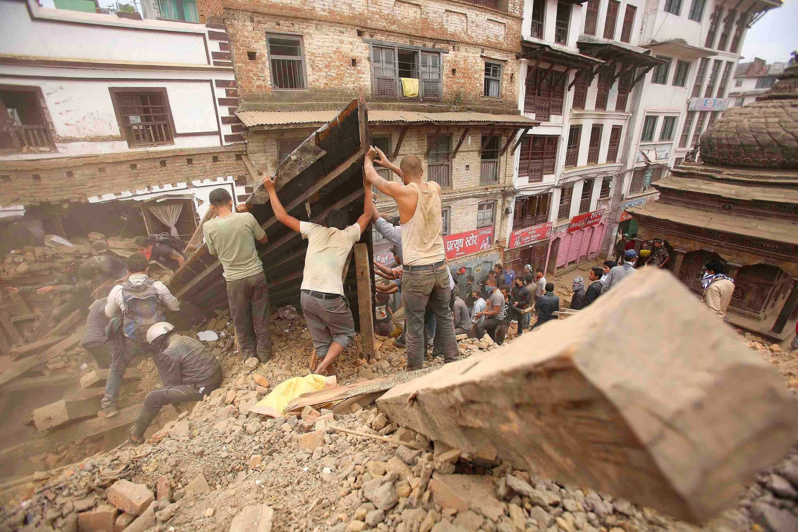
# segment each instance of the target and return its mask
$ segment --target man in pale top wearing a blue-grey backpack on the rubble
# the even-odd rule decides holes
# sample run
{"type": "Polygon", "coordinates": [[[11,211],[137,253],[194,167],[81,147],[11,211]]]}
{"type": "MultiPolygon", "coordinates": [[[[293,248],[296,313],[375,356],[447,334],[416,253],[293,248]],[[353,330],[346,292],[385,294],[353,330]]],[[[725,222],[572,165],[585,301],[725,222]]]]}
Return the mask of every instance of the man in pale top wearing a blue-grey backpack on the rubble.
{"type": "MultiPolygon", "coordinates": [[[[117,396],[124,370],[139,353],[150,354],[148,329],[166,321],[167,309],[180,309],[180,302],[164,283],[148,277],[148,261],[144,255],[132,254],[128,257],[127,266],[128,280],[113,287],[105,304],[105,315],[111,318],[109,341],[116,342],[117,349],[113,349],[98,417],[117,415],[117,396]]],[[[161,372],[161,368],[158,369],[161,372]]]]}

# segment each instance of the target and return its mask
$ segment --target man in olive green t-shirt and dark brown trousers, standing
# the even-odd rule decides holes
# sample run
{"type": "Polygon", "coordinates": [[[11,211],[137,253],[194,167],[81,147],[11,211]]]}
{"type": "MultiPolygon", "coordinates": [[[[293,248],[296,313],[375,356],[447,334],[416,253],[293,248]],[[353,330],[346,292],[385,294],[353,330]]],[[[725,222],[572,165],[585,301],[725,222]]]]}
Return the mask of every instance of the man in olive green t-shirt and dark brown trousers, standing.
{"type": "Polygon", "coordinates": [[[267,242],[266,233],[255,216],[234,212],[230,193],[217,188],[208,196],[215,219],[203,225],[207,250],[219,257],[227,281],[227,301],[244,360],[271,358],[269,336],[269,292],[263,262],[255,242],[267,242]]]}

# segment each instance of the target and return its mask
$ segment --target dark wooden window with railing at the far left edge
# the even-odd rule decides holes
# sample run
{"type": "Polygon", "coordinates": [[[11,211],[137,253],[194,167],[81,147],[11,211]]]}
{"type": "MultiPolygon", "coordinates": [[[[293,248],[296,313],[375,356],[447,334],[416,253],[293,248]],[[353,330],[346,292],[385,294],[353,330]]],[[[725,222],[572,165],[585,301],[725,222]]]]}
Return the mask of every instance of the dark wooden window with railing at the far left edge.
{"type": "Polygon", "coordinates": [[[0,151],[51,152],[55,150],[38,87],[0,87],[0,151]]]}

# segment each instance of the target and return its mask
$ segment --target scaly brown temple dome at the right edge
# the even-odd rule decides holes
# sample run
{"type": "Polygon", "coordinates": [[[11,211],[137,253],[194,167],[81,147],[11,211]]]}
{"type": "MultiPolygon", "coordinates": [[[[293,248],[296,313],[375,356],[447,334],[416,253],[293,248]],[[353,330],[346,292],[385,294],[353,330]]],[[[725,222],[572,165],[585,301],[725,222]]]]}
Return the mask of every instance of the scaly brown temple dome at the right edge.
{"type": "Polygon", "coordinates": [[[701,136],[700,149],[708,164],[798,168],[798,65],[753,104],[725,111],[701,136]]]}

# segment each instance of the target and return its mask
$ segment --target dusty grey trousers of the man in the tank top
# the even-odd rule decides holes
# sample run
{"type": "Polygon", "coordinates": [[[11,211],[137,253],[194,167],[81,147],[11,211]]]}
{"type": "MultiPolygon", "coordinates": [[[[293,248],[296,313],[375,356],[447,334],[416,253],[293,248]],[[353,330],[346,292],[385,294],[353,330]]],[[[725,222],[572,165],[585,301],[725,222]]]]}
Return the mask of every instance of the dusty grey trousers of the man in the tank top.
{"type": "Polygon", "coordinates": [[[407,344],[407,369],[419,369],[424,365],[426,345],[424,338],[425,309],[429,309],[437,321],[440,349],[444,361],[457,359],[457,342],[454,338],[452,310],[449,308],[448,273],[446,264],[440,266],[405,267],[402,274],[401,291],[405,303],[405,342],[407,344]]]}

